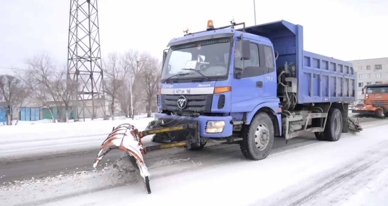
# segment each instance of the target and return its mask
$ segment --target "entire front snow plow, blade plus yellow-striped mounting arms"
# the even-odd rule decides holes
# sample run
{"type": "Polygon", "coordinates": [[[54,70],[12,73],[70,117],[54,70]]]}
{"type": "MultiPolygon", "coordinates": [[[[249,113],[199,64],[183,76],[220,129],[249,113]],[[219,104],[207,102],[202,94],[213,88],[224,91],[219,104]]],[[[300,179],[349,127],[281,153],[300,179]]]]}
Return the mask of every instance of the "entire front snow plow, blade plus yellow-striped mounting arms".
{"type": "MultiPolygon", "coordinates": [[[[175,121],[178,121],[178,123],[182,122],[177,119],[175,119],[175,121]]],[[[187,121],[187,123],[182,123],[180,125],[178,125],[178,123],[174,123],[174,121],[162,123],[162,121],[154,120],[148,124],[143,132],[139,132],[135,126],[130,124],[122,124],[113,128],[112,132],[109,133],[106,140],[102,143],[99,154],[94,160],[93,167],[96,168],[99,161],[112,149],[121,149],[128,153],[130,164],[132,164],[134,169],[140,171],[147,192],[150,194],[150,173],[147,166],[145,166],[142,155],[150,151],[172,147],[187,147],[190,149],[192,145],[200,144],[198,131],[199,123],[197,121],[187,121]],[[179,137],[181,137],[181,134],[184,134],[184,138],[173,139],[170,142],[163,143],[155,140],[155,136],[157,135],[158,137],[166,138],[175,133],[177,133],[179,137]],[[155,135],[154,138],[152,138],[153,142],[151,142],[153,145],[143,147],[142,138],[147,135],[155,135]]]]}

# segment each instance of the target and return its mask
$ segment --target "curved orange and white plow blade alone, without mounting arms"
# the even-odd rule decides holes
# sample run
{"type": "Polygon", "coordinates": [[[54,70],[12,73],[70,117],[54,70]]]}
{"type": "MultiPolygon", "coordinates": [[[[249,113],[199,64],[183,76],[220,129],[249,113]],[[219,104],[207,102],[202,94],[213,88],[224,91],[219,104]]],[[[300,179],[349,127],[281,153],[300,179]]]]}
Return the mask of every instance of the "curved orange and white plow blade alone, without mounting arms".
{"type": "MultiPolygon", "coordinates": [[[[149,172],[145,166],[142,150],[143,146],[140,143],[139,131],[135,126],[130,124],[122,124],[113,129],[106,140],[102,143],[100,152],[94,160],[93,167],[96,168],[99,161],[112,149],[121,149],[128,152],[130,156],[136,159],[137,167],[140,175],[145,181],[148,194],[151,193],[149,185],[149,172]]],[[[135,165],[134,165],[135,166],[135,165]]]]}

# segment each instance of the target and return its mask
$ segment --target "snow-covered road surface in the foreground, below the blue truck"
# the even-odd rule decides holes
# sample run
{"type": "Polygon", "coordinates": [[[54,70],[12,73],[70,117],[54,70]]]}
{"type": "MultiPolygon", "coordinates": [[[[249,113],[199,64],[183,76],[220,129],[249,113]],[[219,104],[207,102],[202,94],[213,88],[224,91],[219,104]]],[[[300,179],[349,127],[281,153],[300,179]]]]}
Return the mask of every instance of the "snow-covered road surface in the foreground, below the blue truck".
{"type": "Polygon", "coordinates": [[[274,152],[262,161],[221,151],[201,161],[161,162],[167,166],[150,168],[152,194],[141,181],[126,184],[128,177],[110,167],[23,180],[0,187],[0,205],[386,206],[385,133],[387,123],[380,121],[338,142],[274,152]],[[177,171],[178,166],[187,169],[177,171]]]}

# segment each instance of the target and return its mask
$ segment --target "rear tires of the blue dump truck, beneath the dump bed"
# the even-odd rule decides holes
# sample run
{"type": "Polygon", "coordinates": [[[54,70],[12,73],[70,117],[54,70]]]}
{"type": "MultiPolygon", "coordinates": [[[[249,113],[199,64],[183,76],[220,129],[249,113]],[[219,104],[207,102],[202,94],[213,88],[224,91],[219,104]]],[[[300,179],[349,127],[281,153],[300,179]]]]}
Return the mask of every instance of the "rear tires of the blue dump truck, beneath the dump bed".
{"type": "Polygon", "coordinates": [[[315,132],[315,138],[320,141],[338,141],[342,134],[342,126],[341,111],[336,108],[330,108],[327,114],[325,130],[323,132],[315,132]]]}

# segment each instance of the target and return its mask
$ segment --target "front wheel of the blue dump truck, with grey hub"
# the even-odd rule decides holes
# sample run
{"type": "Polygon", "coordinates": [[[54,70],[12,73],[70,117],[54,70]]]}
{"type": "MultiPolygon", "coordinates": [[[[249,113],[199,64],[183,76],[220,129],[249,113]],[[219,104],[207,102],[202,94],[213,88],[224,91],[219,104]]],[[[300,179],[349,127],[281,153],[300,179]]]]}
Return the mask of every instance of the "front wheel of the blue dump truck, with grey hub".
{"type": "Polygon", "coordinates": [[[267,113],[256,114],[251,124],[244,125],[241,131],[240,149],[250,160],[265,159],[274,144],[274,125],[267,113]]]}

